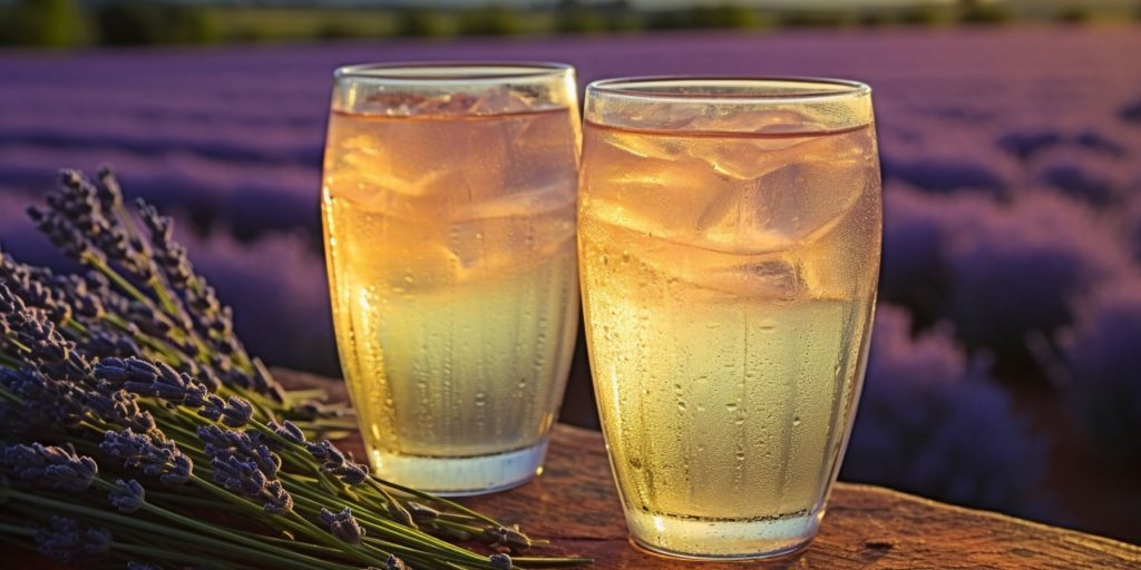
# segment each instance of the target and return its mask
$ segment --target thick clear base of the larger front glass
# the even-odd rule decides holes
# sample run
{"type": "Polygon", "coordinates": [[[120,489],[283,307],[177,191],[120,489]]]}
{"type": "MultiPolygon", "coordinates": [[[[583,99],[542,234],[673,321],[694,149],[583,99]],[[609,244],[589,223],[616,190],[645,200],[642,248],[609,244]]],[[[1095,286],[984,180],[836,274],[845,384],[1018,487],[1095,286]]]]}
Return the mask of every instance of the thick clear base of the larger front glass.
{"type": "Polygon", "coordinates": [[[771,519],[727,520],[626,513],[630,539],[654,554],[687,560],[787,556],[816,537],[824,510],[771,519]]]}

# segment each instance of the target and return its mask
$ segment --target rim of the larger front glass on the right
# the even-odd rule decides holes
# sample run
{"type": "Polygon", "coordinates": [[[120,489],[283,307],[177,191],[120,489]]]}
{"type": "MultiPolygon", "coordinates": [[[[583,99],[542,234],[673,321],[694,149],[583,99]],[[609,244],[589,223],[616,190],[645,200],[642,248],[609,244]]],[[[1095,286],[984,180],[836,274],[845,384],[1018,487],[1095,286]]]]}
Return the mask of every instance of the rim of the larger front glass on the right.
{"type": "Polygon", "coordinates": [[[586,85],[586,93],[663,103],[772,105],[868,96],[872,87],[855,80],[795,75],[641,75],[592,81],[586,85]],[[785,85],[786,89],[777,91],[770,88],[766,91],[762,89],[766,84],[785,85]],[[717,85],[744,89],[739,92],[714,91],[717,85]],[[803,85],[803,89],[787,89],[793,85],[803,85]],[[695,89],[679,91],[667,89],[670,87],[695,89]]]}

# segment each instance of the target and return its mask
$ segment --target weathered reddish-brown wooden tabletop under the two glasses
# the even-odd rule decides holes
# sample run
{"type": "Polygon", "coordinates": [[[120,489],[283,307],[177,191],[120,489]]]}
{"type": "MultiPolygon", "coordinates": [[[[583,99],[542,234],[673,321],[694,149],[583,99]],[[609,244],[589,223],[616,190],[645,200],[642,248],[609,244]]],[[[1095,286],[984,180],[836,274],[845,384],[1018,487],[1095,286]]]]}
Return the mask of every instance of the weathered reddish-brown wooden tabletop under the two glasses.
{"type": "MultiPolygon", "coordinates": [[[[291,384],[318,381],[281,375],[291,384]]],[[[340,392],[339,385],[331,386],[340,392]]],[[[359,442],[346,442],[359,453],[359,442]]],[[[544,553],[581,554],[597,569],[1141,569],[1141,547],[962,508],[865,484],[836,483],[820,535],[776,562],[695,563],[630,545],[599,433],[558,425],[542,477],[517,489],[463,500],[533,537],[544,553]]]]}

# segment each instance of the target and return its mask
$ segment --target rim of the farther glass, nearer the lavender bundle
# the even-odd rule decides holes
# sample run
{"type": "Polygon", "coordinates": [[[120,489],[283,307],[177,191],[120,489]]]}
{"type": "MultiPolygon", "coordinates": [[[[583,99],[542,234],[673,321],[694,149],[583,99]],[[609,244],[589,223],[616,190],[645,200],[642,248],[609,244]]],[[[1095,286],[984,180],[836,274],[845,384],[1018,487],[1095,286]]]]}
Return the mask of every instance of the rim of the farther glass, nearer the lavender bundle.
{"type": "Polygon", "coordinates": [[[454,85],[558,79],[574,73],[570,64],[524,60],[386,62],[342,65],[335,80],[379,81],[408,85],[454,85]]]}

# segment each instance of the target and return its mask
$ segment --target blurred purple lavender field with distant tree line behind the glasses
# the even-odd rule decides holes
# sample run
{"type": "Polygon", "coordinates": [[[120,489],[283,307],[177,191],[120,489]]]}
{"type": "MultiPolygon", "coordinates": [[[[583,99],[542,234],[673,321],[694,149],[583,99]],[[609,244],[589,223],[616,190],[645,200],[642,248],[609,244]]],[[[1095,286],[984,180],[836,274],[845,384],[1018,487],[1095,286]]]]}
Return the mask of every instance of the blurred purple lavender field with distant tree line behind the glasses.
{"type": "MultiPolygon", "coordinates": [[[[1141,543],[1141,3],[0,1],[0,246],[113,164],[268,361],[338,375],[317,214],[331,73],[541,59],[580,84],[875,90],[881,308],[842,478],[1141,543]]],[[[448,157],[442,156],[442,161],[448,157]]],[[[593,425],[580,355],[564,418],[593,425]]]]}

